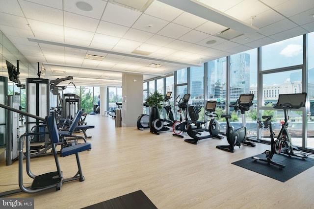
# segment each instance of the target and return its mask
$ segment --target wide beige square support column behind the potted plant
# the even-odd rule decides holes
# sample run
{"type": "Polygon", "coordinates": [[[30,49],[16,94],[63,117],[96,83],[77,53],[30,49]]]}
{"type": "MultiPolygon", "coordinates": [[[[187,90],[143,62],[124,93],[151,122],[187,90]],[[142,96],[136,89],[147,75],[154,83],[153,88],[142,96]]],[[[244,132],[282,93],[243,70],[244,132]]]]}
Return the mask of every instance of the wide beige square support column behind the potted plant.
{"type": "Polygon", "coordinates": [[[122,126],[136,126],[143,114],[143,75],[122,73],[122,126]]]}

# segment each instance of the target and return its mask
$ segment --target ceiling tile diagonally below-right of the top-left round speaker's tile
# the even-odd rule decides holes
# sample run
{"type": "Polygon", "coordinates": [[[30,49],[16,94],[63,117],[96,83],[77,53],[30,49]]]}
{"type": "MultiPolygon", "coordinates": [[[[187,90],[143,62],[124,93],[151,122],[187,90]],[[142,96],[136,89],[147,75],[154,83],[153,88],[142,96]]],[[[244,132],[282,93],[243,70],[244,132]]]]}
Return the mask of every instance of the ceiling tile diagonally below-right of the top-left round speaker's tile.
{"type": "Polygon", "coordinates": [[[96,32],[122,38],[128,30],[129,27],[123,25],[100,21],[96,32]]]}

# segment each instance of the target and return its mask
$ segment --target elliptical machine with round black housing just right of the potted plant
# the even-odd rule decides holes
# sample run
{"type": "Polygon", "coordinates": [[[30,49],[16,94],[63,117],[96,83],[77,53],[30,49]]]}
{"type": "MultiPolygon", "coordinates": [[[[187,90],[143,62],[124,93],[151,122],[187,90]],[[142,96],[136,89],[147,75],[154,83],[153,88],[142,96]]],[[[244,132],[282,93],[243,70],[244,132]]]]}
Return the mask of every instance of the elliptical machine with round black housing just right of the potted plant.
{"type": "Polygon", "coordinates": [[[170,129],[166,126],[172,126],[174,124],[173,118],[174,118],[174,112],[170,106],[169,99],[171,98],[172,92],[167,92],[166,96],[164,98],[164,101],[168,102],[167,106],[164,106],[168,119],[162,119],[159,115],[159,110],[156,106],[151,107],[150,113],[149,113],[149,128],[150,132],[153,134],[159,134],[160,131],[169,131],[170,129]]]}

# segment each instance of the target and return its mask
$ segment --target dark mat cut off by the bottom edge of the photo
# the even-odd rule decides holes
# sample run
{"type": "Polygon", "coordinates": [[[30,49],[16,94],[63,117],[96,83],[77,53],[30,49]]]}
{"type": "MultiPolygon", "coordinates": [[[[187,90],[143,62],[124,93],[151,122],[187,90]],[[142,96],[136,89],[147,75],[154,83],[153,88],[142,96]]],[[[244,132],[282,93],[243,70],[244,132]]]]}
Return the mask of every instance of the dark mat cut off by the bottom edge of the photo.
{"type": "Polygon", "coordinates": [[[83,209],[157,209],[157,207],[142,190],[138,190],[83,209]]]}

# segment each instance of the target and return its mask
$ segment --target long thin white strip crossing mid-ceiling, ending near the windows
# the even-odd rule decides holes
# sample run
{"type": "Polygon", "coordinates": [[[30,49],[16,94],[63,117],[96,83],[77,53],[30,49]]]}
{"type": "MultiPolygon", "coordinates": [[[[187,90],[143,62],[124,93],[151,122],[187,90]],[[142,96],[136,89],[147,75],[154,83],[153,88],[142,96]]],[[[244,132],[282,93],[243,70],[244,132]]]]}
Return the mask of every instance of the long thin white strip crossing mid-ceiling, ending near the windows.
{"type": "Polygon", "coordinates": [[[182,63],[182,62],[177,62],[177,61],[173,61],[173,60],[165,60],[165,59],[159,59],[159,58],[148,57],[148,56],[143,56],[143,55],[141,56],[141,55],[136,55],[136,54],[131,54],[131,53],[122,53],[122,52],[118,52],[118,51],[104,50],[104,49],[100,49],[100,48],[77,46],[77,45],[64,44],[64,43],[60,43],[60,42],[51,42],[51,41],[46,41],[46,40],[41,40],[41,39],[34,39],[34,38],[27,38],[27,39],[30,42],[36,42],[36,43],[41,43],[41,44],[49,44],[49,45],[63,46],[63,47],[69,47],[69,48],[79,48],[79,49],[83,49],[83,50],[97,51],[97,52],[115,54],[115,55],[126,56],[126,57],[135,57],[135,58],[145,59],[145,60],[154,60],[154,61],[159,61],[159,62],[172,63],[172,64],[177,64],[177,65],[183,65],[186,67],[192,67],[192,66],[202,67],[202,65],[199,65],[199,64],[182,63]]]}

